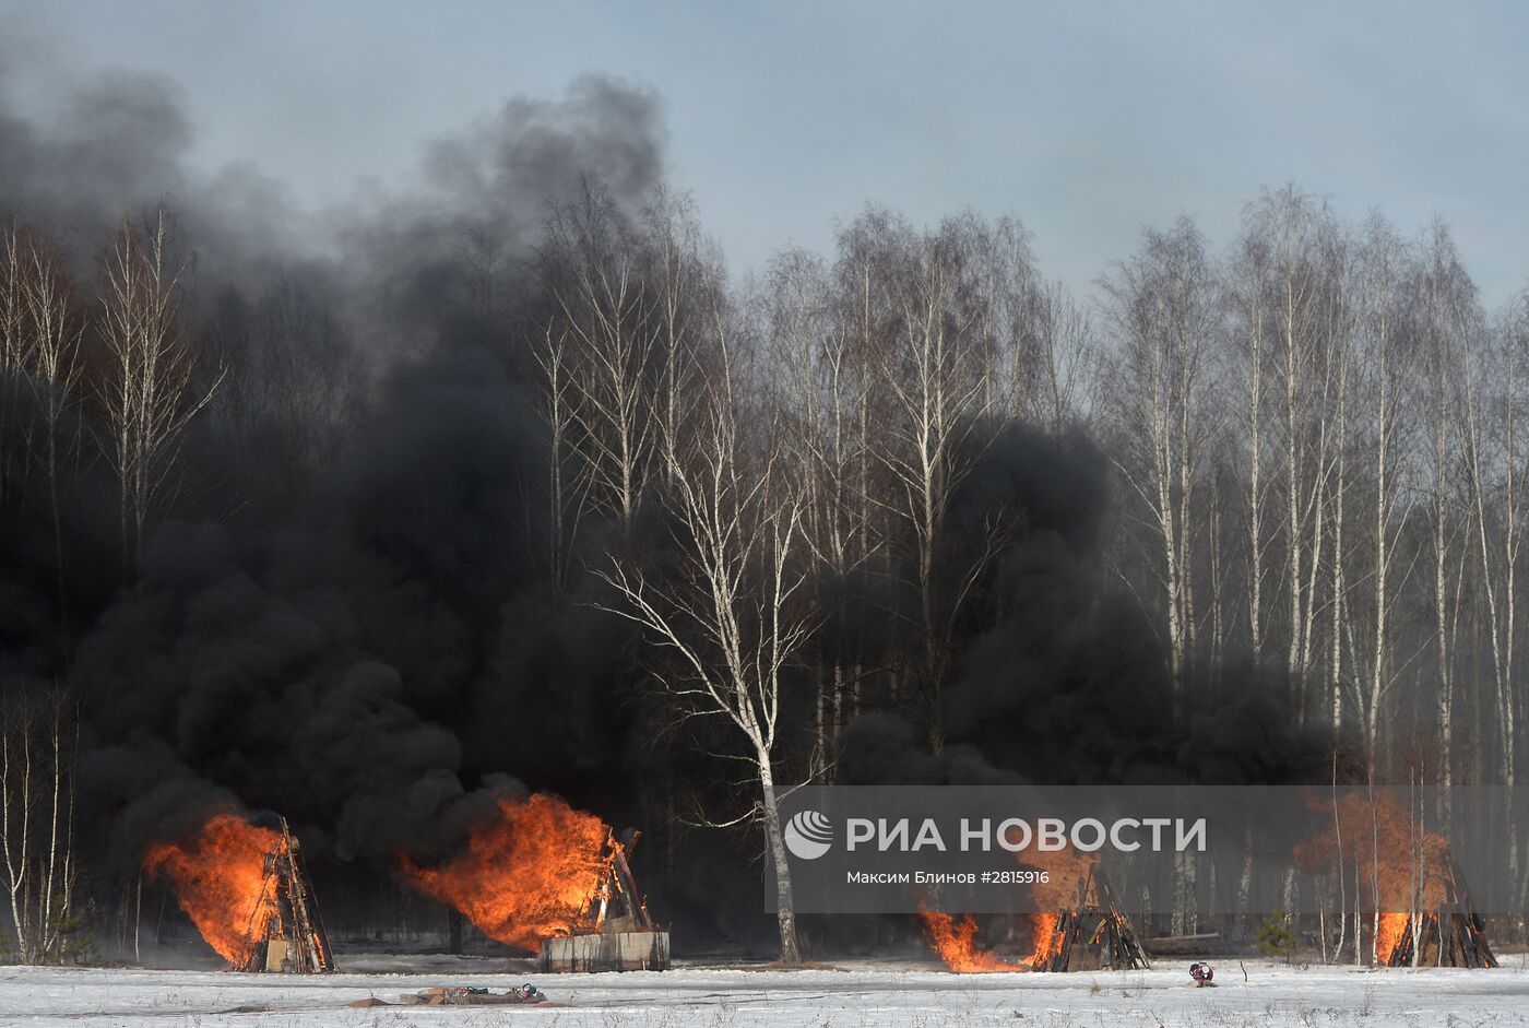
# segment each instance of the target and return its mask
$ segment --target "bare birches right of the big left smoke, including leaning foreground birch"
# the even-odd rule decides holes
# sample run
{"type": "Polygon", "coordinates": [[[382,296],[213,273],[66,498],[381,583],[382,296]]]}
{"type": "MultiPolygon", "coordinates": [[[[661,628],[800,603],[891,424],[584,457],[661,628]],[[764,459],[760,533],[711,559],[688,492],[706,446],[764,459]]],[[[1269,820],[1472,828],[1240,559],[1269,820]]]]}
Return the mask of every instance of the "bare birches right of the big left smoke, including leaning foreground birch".
{"type": "Polygon", "coordinates": [[[965,618],[1026,531],[1001,506],[946,520],[1014,422],[1107,454],[1101,561],[1159,635],[1179,717],[1272,688],[1350,777],[1515,782],[1529,304],[1488,314],[1442,222],[1408,239],[1286,187],[1222,254],[1190,219],[1144,231],[1096,303],[1047,283],[1009,220],[870,210],[835,254],[781,252],[731,294],[700,251],[683,285],[671,233],[641,286],[616,248],[558,291],[549,474],[576,497],[564,525],[648,491],[671,512],[676,577],[618,549],[609,609],[674,658],[657,678],[680,707],[746,739],[777,867],[787,667],[810,696],[798,774],[832,780],[862,710],[943,745],[965,618]],[[622,396],[654,405],[628,416],[622,396]],[[894,642],[842,630],[864,620],[894,642]]]}

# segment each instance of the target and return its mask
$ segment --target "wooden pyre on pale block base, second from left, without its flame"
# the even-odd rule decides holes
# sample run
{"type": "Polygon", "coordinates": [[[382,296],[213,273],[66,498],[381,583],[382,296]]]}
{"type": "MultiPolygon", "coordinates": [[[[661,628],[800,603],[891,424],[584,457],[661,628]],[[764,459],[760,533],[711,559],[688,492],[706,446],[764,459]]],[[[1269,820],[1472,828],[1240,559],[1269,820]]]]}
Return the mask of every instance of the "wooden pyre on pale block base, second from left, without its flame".
{"type": "Polygon", "coordinates": [[[670,965],[670,935],[648,916],[631,878],[627,854],[641,832],[618,840],[605,834],[599,884],[569,935],[541,941],[543,971],[662,971],[670,965]]]}

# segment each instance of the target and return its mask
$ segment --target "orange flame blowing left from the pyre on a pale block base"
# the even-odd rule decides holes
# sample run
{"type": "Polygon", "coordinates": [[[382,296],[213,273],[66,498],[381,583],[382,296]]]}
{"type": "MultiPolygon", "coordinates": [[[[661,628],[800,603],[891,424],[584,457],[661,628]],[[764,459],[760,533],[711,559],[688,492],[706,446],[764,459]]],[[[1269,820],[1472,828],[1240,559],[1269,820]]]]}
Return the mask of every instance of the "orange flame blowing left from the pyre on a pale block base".
{"type": "Polygon", "coordinates": [[[540,952],[541,939],[569,935],[605,870],[609,829],[593,814],[552,795],[505,797],[498,817],[468,835],[437,867],[399,858],[404,878],[456,907],[483,935],[540,952]]]}

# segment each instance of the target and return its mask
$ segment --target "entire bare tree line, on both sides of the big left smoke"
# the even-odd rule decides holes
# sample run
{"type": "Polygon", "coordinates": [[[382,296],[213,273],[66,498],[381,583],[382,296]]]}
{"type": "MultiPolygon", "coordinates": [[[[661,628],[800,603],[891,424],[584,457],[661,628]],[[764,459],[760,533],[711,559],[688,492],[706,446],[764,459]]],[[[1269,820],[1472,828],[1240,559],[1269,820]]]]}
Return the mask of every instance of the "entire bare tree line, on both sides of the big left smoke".
{"type": "MultiPolygon", "coordinates": [[[[867,208],[832,252],[737,280],[685,197],[633,208],[586,184],[532,249],[500,243],[462,239],[450,326],[417,346],[486,350],[526,398],[546,603],[627,626],[622,702],[664,745],[743,769],[656,776],[650,812],[757,825],[783,959],[781,792],[839,780],[865,716],[894,713],[924,754],[969,736],[953,695],[1037,532],[985,480],[1015,427],[1109,468],[1087,603],[1130,598],[1168,722],[1264,690],[1347,779],[1515,782],[1529,300],[1488,312],[1442,222],[1408,237],[1286,187],[1220,249],[1190,219],[1144,231],[1090,297],[1044,277],[1018,222],[971,213],[867,208]]],[[[70,702],[89,708],[61,698],[102,595],[135,587],[171,516],[301,506],[368,430],[382,358],[301,274],[199,292],[167,207],[86,263],[12,220],[0,343],[0,506],[47,528],[55,598],[23,632],[55,702],[6,707],[14,945],[38,958],[78,873],[57,855],[57,745],[70,702]],[[209,436],[258,465],[242,490],[208,485],[209,436]],[[92,476],[110,574],[67,546],[92,476]],[[107,583],[83,590],[93,607],[80,577],[107,583]],[[52,771],[14,786],[14,754],[46,739],[52,771]],[[54,841],[44,857],[23,829],[17,870],[14,826],[41,809],[54,841]]]]}

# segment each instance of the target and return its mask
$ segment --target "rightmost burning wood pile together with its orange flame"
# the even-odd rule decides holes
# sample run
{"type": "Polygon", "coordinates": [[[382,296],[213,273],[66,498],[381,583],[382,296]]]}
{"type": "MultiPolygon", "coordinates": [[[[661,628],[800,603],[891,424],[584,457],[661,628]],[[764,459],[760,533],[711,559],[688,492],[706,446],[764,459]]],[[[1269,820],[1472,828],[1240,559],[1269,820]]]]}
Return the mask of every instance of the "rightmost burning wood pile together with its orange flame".
{"type": "Polygon", "coordinates": [[[1425,831],[1391,792],[1346,795],[1324,815],[1332,828],[1297,847],[1297,866],[1361,884],[1353,924],[1370,927],[1375,964],[1497,967],[1448,840],[1425,831]]]}

